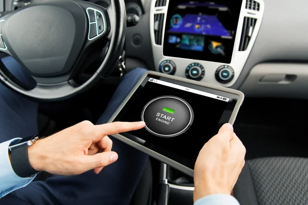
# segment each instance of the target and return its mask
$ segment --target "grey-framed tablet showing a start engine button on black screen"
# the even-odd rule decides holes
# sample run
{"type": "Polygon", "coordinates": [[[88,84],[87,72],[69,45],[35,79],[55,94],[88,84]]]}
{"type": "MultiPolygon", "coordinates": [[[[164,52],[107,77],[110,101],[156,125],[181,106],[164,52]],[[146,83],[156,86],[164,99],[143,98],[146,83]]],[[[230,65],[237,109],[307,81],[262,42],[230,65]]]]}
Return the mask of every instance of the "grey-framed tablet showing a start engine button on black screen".
{"type": "Polygon", "coordinates": [[[233,125],[243,99],[237,90],[149,71],[109,120],[145,127],[112,136],[194,176],[199,151],[223,124],[233,125]]]}

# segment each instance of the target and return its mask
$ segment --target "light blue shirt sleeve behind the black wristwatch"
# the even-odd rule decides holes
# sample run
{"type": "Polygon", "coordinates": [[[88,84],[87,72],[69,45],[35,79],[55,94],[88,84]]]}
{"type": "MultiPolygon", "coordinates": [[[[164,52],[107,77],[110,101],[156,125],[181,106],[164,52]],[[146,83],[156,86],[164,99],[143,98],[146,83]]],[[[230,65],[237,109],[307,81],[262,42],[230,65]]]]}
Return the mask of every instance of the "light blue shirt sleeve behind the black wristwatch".
{"type": "Polygon", "coordinates": [[[0,144],[0,198],[16,189],[27,186],[35,177],[22,178],[15,174],[11,166],[9,145],[17,139],[20,138],[15,138],[0,144]]]}

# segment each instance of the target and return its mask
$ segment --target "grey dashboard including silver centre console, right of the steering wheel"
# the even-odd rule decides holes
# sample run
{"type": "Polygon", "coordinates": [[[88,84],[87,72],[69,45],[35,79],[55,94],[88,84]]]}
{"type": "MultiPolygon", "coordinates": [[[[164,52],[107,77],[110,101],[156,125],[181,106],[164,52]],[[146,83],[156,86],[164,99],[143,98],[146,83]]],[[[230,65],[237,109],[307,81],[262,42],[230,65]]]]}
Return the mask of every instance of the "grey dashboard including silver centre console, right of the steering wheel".
{"type": "Polygon", "coordinates": [[[224,8],[224,2],[227,1],[196,1],[190,2],[190,5],[184,5],[184,1],[170,0],[141,2],[144,13],[140,23],[127,28],[125,50],[128,69],[146,67],[238,89],[248,97],[308,98],[305,83],[308,80],[308,54],[305,52],[308,45],[305,37],[307,22],[302,9],[308,3],[244,0],[238,1],[240,9],[234,9],[224,8]],[[200,2],[203,5],[200,6],[200,2]],[[212,5],[207,6],[206,3],[212,5]],[[202,14],[202,8],[201,12],[196,12],[194,9],[189,10],[189,7],[199,10],[200,7],[205,10],[209,7],[225,9],[225,12],[238,15],[238,19],[223,16],[225,20],[214,12],[212,15],[218,16],[218,22],[215,23],[217,19],[210,22],[210,19],[205,19],[206,13],[202,14]],[[177,13],[181,14],[179,18],[177,13]],[[194,15],[200,15],[203,19],[194,15]],[[171,20],[181,21],[182,25],[178,29],[174,28],[178,25],[172,27],[171,20]],[[198,20],[207,21],[207,25],[198,25],[198,20]],[[232,43],[226,42],[230,36],[219,33],[224,31],[215,24],[225,27],[233,38],[227,40],[232,43]],[[206,26],[216,27],[218,34],[204,35],[206,32],[203,32],[204,39],[198,40],[206,26]]]}

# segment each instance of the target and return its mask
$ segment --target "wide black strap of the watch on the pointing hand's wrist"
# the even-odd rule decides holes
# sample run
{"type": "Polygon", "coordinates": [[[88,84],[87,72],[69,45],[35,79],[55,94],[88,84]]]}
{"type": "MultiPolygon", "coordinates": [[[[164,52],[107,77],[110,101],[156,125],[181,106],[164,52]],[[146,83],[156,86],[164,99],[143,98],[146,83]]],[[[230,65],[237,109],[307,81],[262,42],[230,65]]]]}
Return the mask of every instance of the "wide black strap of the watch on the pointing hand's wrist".
{"type": "Polygon", "coordinates": [[[23,178],[31,177],[38,173],[38,171],[34,170],[30,165],[27,144],[12,148],[11,165],[14,172],[23,178]]]}

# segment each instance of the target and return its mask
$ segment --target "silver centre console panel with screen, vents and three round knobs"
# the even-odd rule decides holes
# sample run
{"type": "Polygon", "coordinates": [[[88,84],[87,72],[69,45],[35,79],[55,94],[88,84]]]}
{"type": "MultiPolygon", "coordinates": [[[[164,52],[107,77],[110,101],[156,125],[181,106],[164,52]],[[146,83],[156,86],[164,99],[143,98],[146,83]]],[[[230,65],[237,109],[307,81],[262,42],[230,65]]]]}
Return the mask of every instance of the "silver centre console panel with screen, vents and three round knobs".
{"type": "Polygon", "coordinates": [[[230,87],[257,37],[263,0],[153,0],[150,29],[156,71],[230,87]]]}

